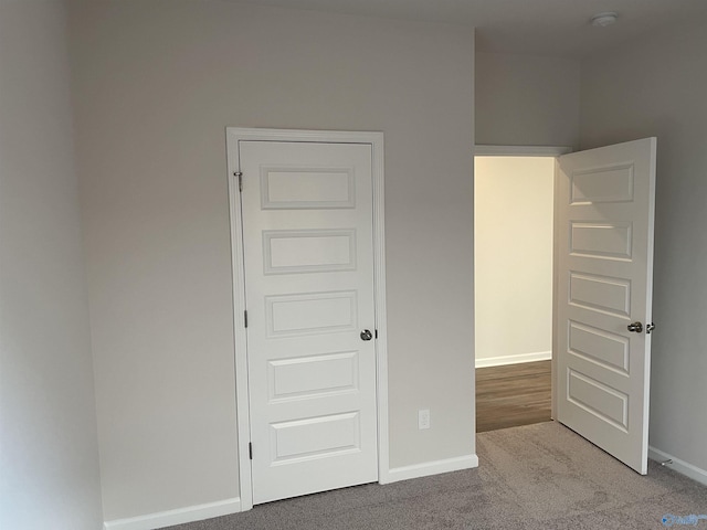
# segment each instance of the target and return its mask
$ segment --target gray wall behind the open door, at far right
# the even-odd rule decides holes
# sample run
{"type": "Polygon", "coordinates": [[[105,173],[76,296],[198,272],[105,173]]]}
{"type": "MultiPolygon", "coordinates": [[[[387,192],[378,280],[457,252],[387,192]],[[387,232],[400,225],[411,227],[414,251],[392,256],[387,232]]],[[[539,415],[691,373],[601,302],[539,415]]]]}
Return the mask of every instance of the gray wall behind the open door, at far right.
{"type": "Polygon", "coordinates": [[[707,29],[582,63],[581,147],[657,136],[650,444],[707,469],[707,29]]]}

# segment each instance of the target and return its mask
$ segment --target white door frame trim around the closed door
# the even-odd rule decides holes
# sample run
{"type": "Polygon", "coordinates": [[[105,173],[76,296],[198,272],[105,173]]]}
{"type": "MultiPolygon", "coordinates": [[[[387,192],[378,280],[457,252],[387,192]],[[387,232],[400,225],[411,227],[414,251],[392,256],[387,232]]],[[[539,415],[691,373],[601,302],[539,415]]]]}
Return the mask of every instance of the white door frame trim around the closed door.
{"type": "Polygon", "coordinates": [[[245,311],[245,267],[243,224],[238,173],[239,142],[291,141],[325,144],[363,144],[371,146],[373,189],[373,296],[376,311],[376,392],[378,415],[378,481],[389,479],[388,431],[388,333],[386,317],[386,230],[383,132],[341,130],[299,130],[226,127],[226,167],[229,213],[231,226],[231,276],[233,283],[233,339],[235,346],[235,409],[241,511],[253,508],[253,483],[249,443],[251,433],[250,389],[247,380],[247,341],[243,314],[245,311]]]}

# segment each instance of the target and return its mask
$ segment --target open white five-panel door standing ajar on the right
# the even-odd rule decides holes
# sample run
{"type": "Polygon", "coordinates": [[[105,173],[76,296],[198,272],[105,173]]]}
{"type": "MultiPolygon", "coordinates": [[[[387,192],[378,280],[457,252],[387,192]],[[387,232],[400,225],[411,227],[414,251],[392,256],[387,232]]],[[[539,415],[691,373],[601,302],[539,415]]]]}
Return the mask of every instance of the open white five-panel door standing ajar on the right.
{"type": "Polygon", "coordinates": [[[557,420],[647,473],[656,139],[559,157],[557,420]]]}

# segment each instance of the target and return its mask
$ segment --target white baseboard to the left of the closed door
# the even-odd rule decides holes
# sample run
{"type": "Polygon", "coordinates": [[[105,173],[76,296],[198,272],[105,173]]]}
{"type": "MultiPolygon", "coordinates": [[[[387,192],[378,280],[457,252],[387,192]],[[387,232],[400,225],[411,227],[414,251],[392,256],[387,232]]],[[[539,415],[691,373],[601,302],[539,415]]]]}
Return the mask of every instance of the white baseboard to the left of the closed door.
{"type": "Polygon", "coordinates": [[[103,523],[104,530],[155,530],[156,528],[201,521],[212,517],[229,516],[241,511],[240,497],[209,502],[207,505],[188,506],[177,510],[159,511],[146,516],[115,519],[103,523]]]}

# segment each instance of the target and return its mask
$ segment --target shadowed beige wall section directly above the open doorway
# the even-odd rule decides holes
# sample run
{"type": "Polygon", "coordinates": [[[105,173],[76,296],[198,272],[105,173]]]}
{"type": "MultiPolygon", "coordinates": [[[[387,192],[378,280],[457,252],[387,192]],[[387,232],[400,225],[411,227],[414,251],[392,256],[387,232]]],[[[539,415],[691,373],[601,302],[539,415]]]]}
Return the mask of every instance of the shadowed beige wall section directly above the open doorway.
{"type": "Polygon", "coordinates": [[[569,146],[579,140],[579,61],[476,53],[476,144],[569,146]]]}

